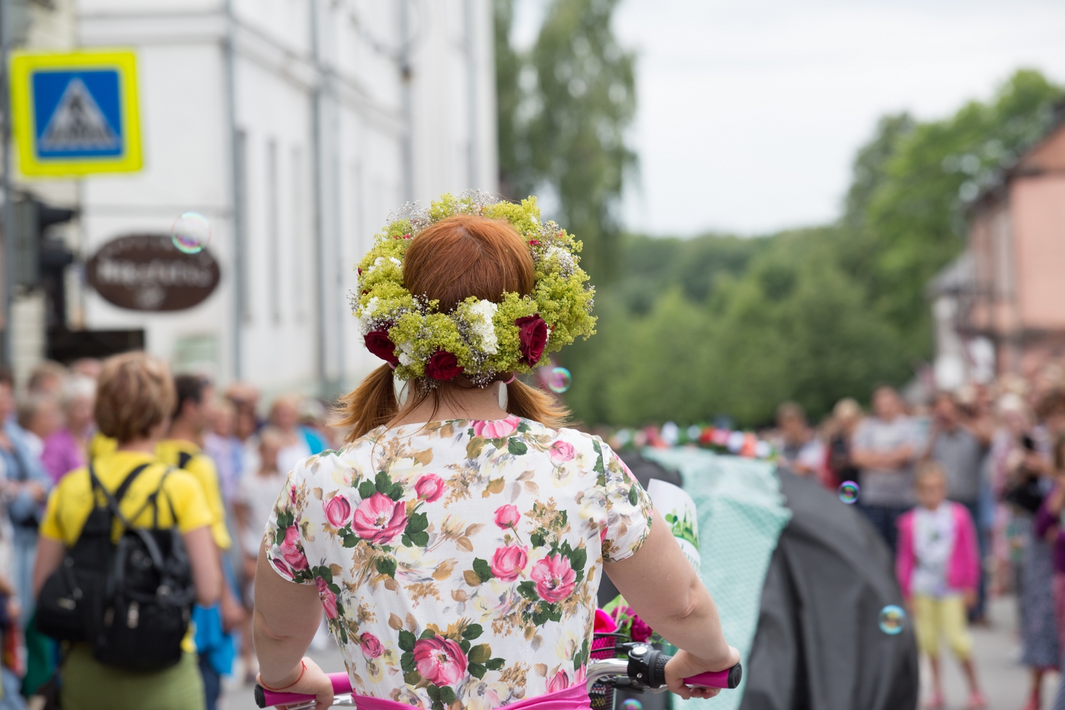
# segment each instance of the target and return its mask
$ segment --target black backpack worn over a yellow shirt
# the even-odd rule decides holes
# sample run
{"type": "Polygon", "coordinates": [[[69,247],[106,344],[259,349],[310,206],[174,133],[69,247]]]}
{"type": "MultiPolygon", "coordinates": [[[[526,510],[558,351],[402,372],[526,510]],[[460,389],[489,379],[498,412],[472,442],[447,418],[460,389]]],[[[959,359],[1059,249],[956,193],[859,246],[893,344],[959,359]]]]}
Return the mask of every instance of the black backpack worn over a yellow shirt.
{"type": "Polygon", "coordinates": [[[147,465],[134,468],[113,495],[89,465],[94,503],[99,491],[106,507],[94,506],[78,542],[45,581],[37,601],[42,633],[88,643],[96,660],[132,671],[159,671],[181,660],[196,596],[180,531],[159,527],[159,495],[165,495],[169,472],[132,516],[136,519],[152,506],[151,528],[132,527],[119,510],[122,496],[147,465]],[[112,543],[116,519],[122,528],[117,544],[112,543]]]}

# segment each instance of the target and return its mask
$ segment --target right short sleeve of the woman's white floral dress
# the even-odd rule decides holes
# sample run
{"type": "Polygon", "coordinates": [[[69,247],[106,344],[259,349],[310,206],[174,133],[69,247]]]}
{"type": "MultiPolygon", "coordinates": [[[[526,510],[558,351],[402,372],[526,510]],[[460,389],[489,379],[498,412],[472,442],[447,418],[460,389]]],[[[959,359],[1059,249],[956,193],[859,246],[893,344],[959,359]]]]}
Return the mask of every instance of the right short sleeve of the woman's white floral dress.
{"type": "MultiPolygon", "coordinates": [[[[654,505],[636,476],[613,450],[593,440],[602,461],[599,480],[604,488],[606,527],[603,535],[603,561],[620,562],[636,554],[651,533],[654,505]]],[[[596,466],[600,462],[596,461],[596,466]]]]}

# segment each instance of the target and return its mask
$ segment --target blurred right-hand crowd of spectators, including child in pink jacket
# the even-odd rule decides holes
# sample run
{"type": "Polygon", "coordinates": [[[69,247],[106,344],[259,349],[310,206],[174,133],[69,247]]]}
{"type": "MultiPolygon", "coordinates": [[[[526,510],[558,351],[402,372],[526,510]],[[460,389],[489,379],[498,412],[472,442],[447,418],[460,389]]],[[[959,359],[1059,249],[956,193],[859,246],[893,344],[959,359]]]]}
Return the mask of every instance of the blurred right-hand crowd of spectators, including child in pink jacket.
{"type": "Polygon", "coordinates": [[[1038,710],[1044,675],[1065,650],[1065,369],[1051,364],[931,402],[907,403],[882,386],[871,410],[843,399],[815,428],[800,406],[782,404],[770,435],[779,463],[833,491],[857,484],[856,498],[841,498],[896,554],[932,661],[929,707],[943,707],[940,637],[966,672],[969,707],[982,706],[966,620],[986,624],[988,596],[1013,593],[1031,672],[1023,707],[1038,710]]]}

